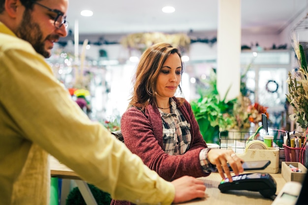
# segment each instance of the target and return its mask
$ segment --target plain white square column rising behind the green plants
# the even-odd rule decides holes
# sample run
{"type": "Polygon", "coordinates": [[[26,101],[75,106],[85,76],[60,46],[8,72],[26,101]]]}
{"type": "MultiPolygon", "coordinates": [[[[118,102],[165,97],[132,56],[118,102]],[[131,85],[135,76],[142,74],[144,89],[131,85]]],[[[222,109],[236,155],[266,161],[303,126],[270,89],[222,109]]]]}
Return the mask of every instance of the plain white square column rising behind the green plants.
{"type": "Polygon", "coordinates": [[[217,90],[227,100],[240,94],[241,0],[218,1],[217,90]]]}

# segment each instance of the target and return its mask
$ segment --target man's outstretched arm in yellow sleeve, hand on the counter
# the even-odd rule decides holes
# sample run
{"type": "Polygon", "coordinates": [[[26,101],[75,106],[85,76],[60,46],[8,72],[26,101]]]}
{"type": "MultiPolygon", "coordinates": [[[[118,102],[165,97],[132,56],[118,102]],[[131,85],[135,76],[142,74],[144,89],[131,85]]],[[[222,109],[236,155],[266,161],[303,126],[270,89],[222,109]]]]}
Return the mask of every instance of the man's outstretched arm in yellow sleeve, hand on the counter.
{"type": "Polygon", "coordinates": [[[1,84],[7,89],[2,89],[1,103],[10,112],[16,135],[41,146],[115,199],[169,205],[200,195],[203,187],[186,185],[185,178],[174,182],[175,191],[106,128],[92,122],[34,51],[16,49],[3,55],[1,84]]]}

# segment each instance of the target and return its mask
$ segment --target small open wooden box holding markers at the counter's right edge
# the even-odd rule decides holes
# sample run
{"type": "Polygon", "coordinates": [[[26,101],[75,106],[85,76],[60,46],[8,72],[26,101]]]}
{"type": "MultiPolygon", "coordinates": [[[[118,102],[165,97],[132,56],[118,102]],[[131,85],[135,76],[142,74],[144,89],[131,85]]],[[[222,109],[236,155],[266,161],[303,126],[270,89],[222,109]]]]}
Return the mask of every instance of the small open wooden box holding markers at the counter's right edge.
{"type": "Polygon", "coordinates": [[[298,181],[303,182],[307,168],[299,162],[281,162],[281,175],[286,182],[298,181]],[[302,172],[292,172],[289,165],[299,168],[302,172]]]}

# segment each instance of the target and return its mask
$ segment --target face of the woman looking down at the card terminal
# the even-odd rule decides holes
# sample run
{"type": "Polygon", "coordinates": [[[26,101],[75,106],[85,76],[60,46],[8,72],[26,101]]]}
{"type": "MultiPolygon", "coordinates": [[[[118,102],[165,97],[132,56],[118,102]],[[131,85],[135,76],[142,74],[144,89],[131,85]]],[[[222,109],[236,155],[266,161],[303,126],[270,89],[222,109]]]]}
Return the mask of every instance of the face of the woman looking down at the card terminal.
{"type": "Polygon", "coordinates": [[[156,99],[173,97],[181,82],[182,63],[177,53],[170,54],[160,68],[156,81],[156,99]]]}

